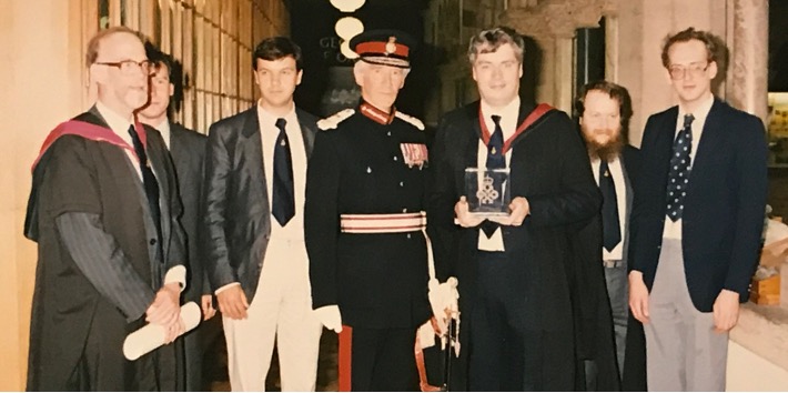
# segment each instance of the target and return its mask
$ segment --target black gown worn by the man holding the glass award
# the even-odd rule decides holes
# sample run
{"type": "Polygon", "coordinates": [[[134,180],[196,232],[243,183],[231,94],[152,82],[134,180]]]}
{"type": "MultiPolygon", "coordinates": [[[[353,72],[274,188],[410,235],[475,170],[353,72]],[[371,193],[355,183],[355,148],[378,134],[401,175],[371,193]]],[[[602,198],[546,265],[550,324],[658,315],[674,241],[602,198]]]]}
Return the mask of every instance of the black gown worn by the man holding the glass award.
{"type": "MultiPolygon", "coordinates": [[[[534,105],[523,101],[518,123],[533,109],[534,105]]],[[[427,222],[436,273],[441,281],[449,275],[457,276],[459,310],[465,315],[469,315],[476,292],[479,229],[455,225],[454,205],[465,194],[465,169],[477,167],[481,139],[478,113],[477,101],[444,115],[430,153],[433,190],[427,222]]],[[[513,280],[522,283],[518,285],[519,293],[513,296],[527,299],[527,306],[511,318],[513,323],[524,325],[526,330],[559,334],[565,345],[548,351],[560,351],[572,356],[573,308],[569,299],[570,272],[567,269],[575,262],[569,239],[578,229],[573,226],[598,212],[600,194],[580,137],[565,113],[553,111],[545,114],[517,137],[512,149],[512,198],[527,198],[531,213],[522,226],[502,228],[507,255],[522,261],[512,271],[513,280]]],[[[463,328],[461,331],[465,347],[468,347],[467,330],[463,328]]],[[[532,352],[538,353],[539,350],[532,352]]],[[[455,371],[462,373],[462,367],[464,365],[455,371]]],[[[563,375],[558,380],[568,381],[563,389],[572,389],[573,370],[550,372],[563,375]]],[[[545,376],[545,380],[556,381],[552,376],[545,376]]],[[[455,386],[457,382],[463,383],[454,382],[455,386]]],[[[536,389],[539,387],[558,389],[536,389]]]]}

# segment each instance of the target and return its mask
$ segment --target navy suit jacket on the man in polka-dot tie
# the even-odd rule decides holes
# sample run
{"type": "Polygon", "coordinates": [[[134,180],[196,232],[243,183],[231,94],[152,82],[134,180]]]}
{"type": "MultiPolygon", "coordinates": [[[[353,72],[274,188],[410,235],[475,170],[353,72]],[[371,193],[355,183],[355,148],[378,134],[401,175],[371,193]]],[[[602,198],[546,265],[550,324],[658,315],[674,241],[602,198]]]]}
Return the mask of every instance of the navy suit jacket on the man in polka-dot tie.
{"type": "MultiPolygon", "coordinates": [[[[648,119],[635,181],[629,261],[649,290],[663,241],[677,117],[673,107],[648,119]]],[[[710,312],[723,289],[739,293],[741,302],[749,296],[768,183],[764,123],[715,99],[691,165],[681,219],[684,269],[695,308],[710,312]]]]}

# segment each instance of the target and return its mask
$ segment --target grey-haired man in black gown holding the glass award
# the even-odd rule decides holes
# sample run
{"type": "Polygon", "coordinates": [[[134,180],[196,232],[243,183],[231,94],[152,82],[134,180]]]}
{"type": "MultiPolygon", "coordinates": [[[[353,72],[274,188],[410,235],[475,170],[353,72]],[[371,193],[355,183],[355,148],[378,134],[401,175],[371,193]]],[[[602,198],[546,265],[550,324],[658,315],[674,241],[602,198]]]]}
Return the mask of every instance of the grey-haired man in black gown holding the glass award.
{"type": "Polygon", "coordinates": [[[523,57],[523,39],[512,29],[472,38],[481,101],[444,115],[431,151],[437,278],[459,282],[453,389],[465,387],[467,362],[473,391],[574,390],[569,239],[600,199],[569,117],[518,97],[523,57]],[[509,170],[508,215],[468,212],[467,168],[509,170]]]}

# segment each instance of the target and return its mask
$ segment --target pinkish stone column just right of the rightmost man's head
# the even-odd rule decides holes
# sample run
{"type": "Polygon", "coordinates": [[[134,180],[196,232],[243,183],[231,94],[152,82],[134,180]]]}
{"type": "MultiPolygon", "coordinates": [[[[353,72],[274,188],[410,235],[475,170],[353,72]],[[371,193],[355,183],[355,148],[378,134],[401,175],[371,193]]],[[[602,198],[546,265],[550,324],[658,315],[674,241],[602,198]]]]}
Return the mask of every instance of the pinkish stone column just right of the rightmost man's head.
{"type": "Polygon", "coordinates": [[[769,59],[769,1],[734,1],[731,103],[766,121],[769,59]]]}

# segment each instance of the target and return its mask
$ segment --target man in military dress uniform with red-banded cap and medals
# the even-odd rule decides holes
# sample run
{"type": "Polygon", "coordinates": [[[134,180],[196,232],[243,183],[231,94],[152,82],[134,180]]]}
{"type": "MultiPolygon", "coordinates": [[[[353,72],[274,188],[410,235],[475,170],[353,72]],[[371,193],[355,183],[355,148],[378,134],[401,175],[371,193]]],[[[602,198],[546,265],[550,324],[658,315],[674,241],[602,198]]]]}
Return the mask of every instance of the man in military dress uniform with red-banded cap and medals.
{"type": "Polygon", "coordinates": [[[327,329],[352,328],[353,391],[417,390],[414,342],[431,316],[426,137],[394,108],[411,43],[383,30],[351,40],[362,101],[319,122],[306,174],[312,305],[327,329]]]}

